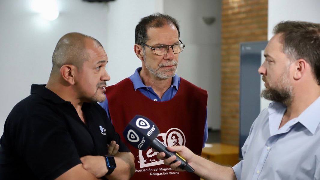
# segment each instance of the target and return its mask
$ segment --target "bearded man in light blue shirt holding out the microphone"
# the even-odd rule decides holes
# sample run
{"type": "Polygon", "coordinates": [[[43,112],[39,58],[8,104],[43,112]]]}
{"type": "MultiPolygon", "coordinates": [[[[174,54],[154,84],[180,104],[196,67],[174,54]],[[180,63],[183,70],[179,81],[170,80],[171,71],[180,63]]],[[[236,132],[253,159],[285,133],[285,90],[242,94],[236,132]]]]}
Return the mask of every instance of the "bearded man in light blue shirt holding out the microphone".
{"type": "MultiPolygon", "coordinates": [[[[274,28],[258,72],[273,101],[253,122],[242,147],[244,160],[224,167],[193,154],[184,146],[168,146],[188,160],[204,179],[320,179],[320,24],[280,22],[274,28]]],[[[164,158],[164,153],[158,153],[164,158]]],[[[170,165],[172,156],[164,160],[170,165]]],[[[170,165],[177,168],[180,162],[170,165]]]]}

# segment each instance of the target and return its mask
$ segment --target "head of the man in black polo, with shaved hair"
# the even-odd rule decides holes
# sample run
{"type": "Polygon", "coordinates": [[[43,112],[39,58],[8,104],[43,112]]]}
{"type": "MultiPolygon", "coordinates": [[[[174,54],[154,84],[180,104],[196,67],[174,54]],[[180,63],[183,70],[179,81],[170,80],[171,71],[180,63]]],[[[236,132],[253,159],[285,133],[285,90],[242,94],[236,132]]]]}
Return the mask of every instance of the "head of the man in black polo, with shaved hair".
{"type": "Polygon", "coordinates": [[[105,69],[107,62],[107,53],[98,40],[81,33],[68,33],[54,49],[52,70],[45,87],[65,101],[74,101],[77,107],[82,102],[104,102],[103,87],[110,80],[105,69]]]}

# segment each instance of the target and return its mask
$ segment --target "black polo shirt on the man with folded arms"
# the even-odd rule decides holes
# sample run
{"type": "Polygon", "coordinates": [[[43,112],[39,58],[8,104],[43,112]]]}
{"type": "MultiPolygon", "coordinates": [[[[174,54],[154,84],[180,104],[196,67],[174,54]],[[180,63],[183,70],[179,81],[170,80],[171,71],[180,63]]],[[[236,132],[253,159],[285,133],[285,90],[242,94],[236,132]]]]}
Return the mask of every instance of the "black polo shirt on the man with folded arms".
{"type": "Polygon", "coordinates": [[[112,140],[129,152],[98,103],[83,104],[84,124],[70,102],[44,86],[33,84],[5,121],[0,179],[55,179],[80,157],[106,155],[112,140]]]}

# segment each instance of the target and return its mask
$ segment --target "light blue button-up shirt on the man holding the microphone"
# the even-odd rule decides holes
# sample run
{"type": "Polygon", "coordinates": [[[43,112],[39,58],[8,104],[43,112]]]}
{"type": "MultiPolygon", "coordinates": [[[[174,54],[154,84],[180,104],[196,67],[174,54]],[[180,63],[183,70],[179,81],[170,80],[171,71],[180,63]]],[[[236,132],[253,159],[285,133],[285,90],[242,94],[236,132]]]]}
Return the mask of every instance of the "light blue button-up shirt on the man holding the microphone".
{"type": "Polygon", "coordinates": [[[286,112],[272,102],[253,122],[233,168],[238,180],[320,179],[320,97],[279,129],[286,112]]]}

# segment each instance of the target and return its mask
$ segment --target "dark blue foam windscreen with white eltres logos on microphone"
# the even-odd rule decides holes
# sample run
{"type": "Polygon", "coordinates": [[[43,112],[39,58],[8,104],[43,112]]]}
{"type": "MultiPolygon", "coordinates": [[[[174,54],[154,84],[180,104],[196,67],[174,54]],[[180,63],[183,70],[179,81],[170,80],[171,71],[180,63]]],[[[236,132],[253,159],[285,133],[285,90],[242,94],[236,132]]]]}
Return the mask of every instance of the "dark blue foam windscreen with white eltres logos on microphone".
{"type": "Polygon", "coordinates": [[[124,138],[135,148],[147,150],[159,134],[159,129],[150,119],[136,115],[125,127],[124,138]]]}

